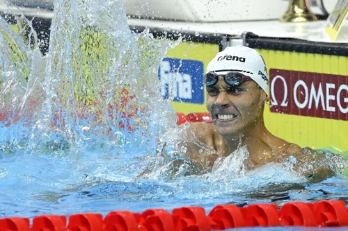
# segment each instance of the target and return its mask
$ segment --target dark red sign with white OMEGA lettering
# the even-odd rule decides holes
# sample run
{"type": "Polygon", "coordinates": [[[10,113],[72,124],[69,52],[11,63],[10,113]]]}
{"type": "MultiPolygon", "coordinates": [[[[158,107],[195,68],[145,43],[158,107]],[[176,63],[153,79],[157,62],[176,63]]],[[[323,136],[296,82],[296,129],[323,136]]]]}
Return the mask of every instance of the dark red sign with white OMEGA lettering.
{"type": "Polygon", "coordinates": [[[270,69],[271,112],[348,120],[347,76],[270,69]]]}

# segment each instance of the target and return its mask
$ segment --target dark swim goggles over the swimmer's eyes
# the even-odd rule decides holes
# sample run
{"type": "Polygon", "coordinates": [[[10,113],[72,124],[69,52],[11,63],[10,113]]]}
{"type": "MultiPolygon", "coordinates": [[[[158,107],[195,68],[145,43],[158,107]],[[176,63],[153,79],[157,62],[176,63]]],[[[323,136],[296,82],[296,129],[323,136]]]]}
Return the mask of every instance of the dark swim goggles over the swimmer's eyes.
{"type": "Polygon", "coordinates": [[[216,74],[216,72],[208,72],[207,74],[204,75],[204,83],[205,86],[207,87],[212,87],[217,83],[219,80],[219,76],[223,76],[223,80],[228,85],[232,85],[237,87],[239,84],[248,81],[248,80],[253,80],[249,76],[244,76],[244,74],[240,74],[237,72],[228,72],[227,74],[221,75],[221,74],[216,74]]]}

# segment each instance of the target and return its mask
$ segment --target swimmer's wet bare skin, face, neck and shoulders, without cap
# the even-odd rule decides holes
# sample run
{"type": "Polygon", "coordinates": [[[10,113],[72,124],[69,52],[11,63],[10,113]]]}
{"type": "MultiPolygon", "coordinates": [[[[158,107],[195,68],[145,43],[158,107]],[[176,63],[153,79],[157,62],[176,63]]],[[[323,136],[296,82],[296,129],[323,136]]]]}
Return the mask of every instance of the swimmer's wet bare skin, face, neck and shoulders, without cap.
{"type": "MultiPolygon", "coordinates": [[[[246,146],[249,156],[245,164],[248,169],[255,169],[268,162],[283,162],[294,155],[299,162],[296,169],[299,174],[310,176],[313,181],[333,176],[333,171],[324,166],[319,166],[315,171],[301,171],[301,164],[315,161],[315,151],[303,149],[272,135],[264,126],[265,101],[267,94],[253,80],[232,87],[219,76],[216,85],[207,87],[206,106],[213,123],[190,123],[187,132],[214,148],[220,156],[230,155],[237,148],[246,146]]],[[[206,171],[211,170],[219,155],[198,153],[198,147],[188,144],[187,156],[206,171]]]]}

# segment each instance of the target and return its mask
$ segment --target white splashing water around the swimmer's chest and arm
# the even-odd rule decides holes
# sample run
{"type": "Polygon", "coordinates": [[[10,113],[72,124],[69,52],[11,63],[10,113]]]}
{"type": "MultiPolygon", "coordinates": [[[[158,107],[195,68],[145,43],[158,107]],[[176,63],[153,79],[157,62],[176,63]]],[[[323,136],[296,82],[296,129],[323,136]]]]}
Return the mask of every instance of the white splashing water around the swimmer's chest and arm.
{"type": "MultiPolygon", "coordinates": [[[[248,158],[246,146],[239,147],[227,157],[219,157],[212,171],[202,174],[200,167],[185,157],[186,145],[196,145],[198,150],[205,153],[217,154],[212,148],[201,143],[196,137],[187,136],[187,127],[175,128],[166,132],[161,137],[162,144],[155,157],[152,157],[144,178],[150,180],[162,180],[168,185],[175,185],[177,181],[184,184],[192,183],[193,191],[187,192],[187,188],[180,191],[182,195],[204,194],[216,196],[216,194],[232,194],[242,191],[253,191],[278,183],[302,183],[306,178],[293,171],[293,163],[285,162],[269,163],[250,171],[245,163],[248,158]],[[213,184],[203,190],[203,185],[213,184]],[[216,189],[216,187],[218,189],[216,189]],[[194,190],[198,190],[194,192],[194,190]],[[203,191],[200,191],[203,190],[203,191]]],[[[205,188],[205,187],[203,187],[205,188]]]]}

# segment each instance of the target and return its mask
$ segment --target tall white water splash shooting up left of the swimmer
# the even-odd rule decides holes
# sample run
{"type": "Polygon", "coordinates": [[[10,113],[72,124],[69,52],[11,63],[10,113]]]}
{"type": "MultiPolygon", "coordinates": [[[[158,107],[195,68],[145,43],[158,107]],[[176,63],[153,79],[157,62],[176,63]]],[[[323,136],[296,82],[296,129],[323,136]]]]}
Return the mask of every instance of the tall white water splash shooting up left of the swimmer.
{"type": "Polygon", "coordinates": [[[53,142],[76,152],[107,139],[109,146],[134,143],[152,151],[154,137],[175,124],[157,76],[177,42],[132,33],[122,1],[56,1],[54,8],[45,57],[1,19],[0,110],[8,125],[29,128],[6,131],[7,141],[23,135],[31,139],[27,149],[53,142]]]}

